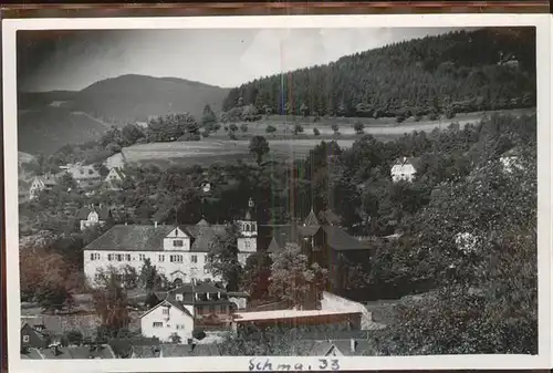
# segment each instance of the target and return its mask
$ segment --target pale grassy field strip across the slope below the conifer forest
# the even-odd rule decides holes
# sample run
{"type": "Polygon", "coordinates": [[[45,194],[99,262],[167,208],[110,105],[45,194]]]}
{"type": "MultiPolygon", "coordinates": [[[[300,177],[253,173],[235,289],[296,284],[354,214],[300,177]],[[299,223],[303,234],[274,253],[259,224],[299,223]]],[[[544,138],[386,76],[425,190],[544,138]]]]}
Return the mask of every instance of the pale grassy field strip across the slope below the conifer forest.
{"type": "MultiPolygon", "coordinates": [[[[535,111],[515,110],[503,113],[513,115],[529,114],[535,111]]],[[[249,154],[249,141],[254,135],[262,135],[269,141],[271,148],[267,159],[273,158],[302,158],[305,157],[311,149],[322,141],[337,141],[341,147],[351,147],[353,143],[361,137],[355,134],[353,124],[358,121],[366,122],[365,134],[371,134],[380,141],[389,141],[397,138],[413,131],[431,132],[435,128],[447,128],[452,122],[459,123],[462,128],[468,123],[480,121],[486,114],[491,112],[459,114],[453,120],[438,121],[406,121],[401,124],[394,123],[394,120],[372,120],[372,118],[323,118],[322,122],[313,124],[309,118],[299,118],[298,122],[304,127],[303,134],[293,135],[294,122],[289,118],[284,122],[284,117],[273,115],[258,123],[249,123],[248,132],[242,133],[240,129],[237,133],[237,139],[229,139],[228,133],[223,128],[211,134],[207,138],[199,142],[171,142],[171,143],[150,143],[139,144],[126,147],[123,149],[125,157],[129,162],[136,163],[153,163],[159,166],[168,166],[170,164],[199,164],[209,165],[218,160],[234,160],[244,159],[253,160],[249,154]],[[340,122],[340,135],[334,135],[331,125],[340,122]],[[265,128],[268,125],[275,126],[276,133],[268,135],[265,128]],[[313,135],[313,128],[316,127],[320,136],[313,135]]],[[[240,127],[240,125],[239,125],[240,127]]]]}

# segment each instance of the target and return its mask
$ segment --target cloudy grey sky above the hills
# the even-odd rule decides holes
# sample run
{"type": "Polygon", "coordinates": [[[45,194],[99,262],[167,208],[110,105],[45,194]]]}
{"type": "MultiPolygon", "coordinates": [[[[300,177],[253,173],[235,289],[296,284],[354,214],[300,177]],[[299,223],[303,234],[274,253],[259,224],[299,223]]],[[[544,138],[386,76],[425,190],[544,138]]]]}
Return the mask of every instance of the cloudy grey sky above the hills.
{"type": "Polygon", "coordinates": [[[79,91],[124,74],[222,87],[325,64],[445,28],[19,31],[20,91],[79,91]]]}

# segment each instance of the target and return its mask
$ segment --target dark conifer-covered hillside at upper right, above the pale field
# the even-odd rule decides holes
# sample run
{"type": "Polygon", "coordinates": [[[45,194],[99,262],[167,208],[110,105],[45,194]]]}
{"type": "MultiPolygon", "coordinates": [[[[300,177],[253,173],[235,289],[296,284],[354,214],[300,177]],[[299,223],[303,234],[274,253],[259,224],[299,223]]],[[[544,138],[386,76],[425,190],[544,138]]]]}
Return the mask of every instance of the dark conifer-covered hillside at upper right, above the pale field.
{"type": "Polygon", "coordinates": [[[259,79],[231,90],[223,110],[380,117],[530,107],[535,79],[535,29],[487,28],[259,79]]]}

